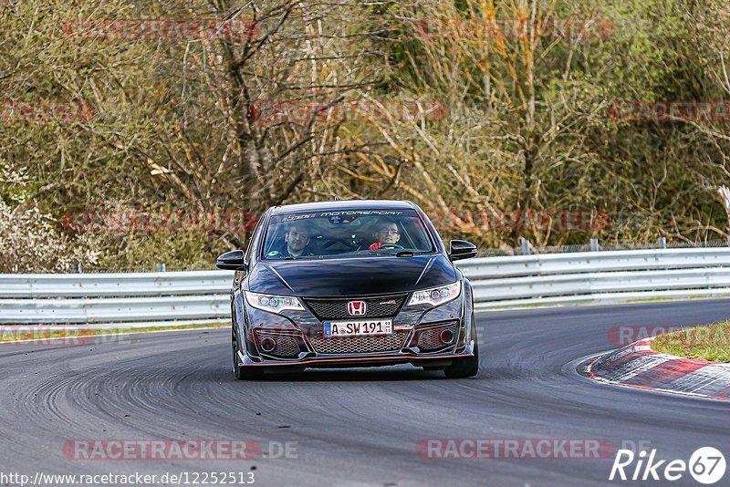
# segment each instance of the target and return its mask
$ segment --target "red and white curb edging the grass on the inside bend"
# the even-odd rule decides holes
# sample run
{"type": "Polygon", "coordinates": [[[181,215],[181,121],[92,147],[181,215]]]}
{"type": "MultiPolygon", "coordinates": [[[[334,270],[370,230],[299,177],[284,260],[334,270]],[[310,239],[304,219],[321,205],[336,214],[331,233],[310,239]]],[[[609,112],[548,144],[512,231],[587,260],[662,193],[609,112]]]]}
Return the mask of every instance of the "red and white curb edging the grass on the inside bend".
{"type": "Polygon", "coordinates": [[[637,389],[730,401],[730,364],[676,357],[652,349],[645,338],[586,368],[590,378],[637,389]]]}

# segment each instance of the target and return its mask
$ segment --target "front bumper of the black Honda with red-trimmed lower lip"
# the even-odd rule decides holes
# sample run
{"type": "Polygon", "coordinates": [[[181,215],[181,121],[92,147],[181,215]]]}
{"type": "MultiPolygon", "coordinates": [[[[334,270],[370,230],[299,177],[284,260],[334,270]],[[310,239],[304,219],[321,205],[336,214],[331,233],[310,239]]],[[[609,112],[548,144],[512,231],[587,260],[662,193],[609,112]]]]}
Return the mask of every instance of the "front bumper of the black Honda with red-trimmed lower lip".
{"type": "MultiPolygon", "coordinates": [[[[378,300],[390,296],[378,297],[378,300]]],[[[241,367],[371,367],[412,363],[446,367],[454,358],[473,356],[471,288],[442,306],[401,306],[392,317],[393,333],[372,337],[324,337],[323,320],[307,309],[267,313],[239,302],[236,326],[241,367]]],[[[395,311],[395,310],[394,310],[395,311]]]]}

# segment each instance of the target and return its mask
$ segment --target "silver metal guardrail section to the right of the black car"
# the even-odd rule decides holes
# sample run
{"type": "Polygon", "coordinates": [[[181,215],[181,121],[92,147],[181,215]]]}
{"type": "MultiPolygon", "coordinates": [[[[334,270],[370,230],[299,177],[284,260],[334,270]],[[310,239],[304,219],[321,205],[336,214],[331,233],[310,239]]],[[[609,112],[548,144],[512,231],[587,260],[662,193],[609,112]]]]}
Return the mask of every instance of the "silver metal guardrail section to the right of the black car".
{"type": "Polygon", "coordinates": [[[537,254],[464,261],[477,309],[730,295],[730,248],[537,254]]]}

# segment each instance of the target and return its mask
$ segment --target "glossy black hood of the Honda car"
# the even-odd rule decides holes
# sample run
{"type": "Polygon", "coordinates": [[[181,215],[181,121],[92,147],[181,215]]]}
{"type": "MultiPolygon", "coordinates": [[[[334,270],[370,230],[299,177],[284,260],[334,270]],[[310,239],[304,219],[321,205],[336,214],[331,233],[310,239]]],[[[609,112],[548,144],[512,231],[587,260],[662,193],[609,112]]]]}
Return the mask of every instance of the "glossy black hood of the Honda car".
{"type": "Polygon", "coordinates": [[[255,264],[248,288],[255,293],[339,297],[410,292],[453,283],[454,265],[443,254],[412,257],[263,261],[255,264]]]}

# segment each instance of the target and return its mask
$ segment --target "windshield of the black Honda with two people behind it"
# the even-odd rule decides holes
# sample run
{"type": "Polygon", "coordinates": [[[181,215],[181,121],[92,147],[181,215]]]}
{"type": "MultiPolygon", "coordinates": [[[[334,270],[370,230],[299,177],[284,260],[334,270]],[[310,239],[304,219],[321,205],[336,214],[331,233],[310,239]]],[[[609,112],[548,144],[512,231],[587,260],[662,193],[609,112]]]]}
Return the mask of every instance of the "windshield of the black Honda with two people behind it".
{"type": "Polygon", "coordinates": [[[410,255],[435,252],[415,210],[340,210],[272,216],[266,260],[341,255],[410,255]]]}

